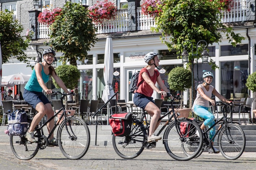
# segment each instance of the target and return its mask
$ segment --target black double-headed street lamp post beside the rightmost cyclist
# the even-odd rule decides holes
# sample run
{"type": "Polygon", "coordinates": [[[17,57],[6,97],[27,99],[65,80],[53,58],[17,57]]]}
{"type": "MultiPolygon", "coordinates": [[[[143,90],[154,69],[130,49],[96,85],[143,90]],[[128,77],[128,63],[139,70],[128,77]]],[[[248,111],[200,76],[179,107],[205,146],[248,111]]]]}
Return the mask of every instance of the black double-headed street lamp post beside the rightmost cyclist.
{"type": "Polygon", "coordinates": [[[185,42],[189,42],[191,44],[191,53],[192,53],[192,60],[191,60],[191,70],[192,70],[192,92],[191,92],[191,95],[192,95],[192,104],[194,103],[194,76],[193,76],[193,73],[194,73],[194,57],[193,56],[197,56],[197,85],[198,85],[198,46],[200,47],[203,47],[204,50],[201,54],[202,56],[202,63],[205,63],[207,62],[208,63],[208,52],[206,50],[206,47],[207,47],[207,42],[204,41],[204,40],[200,40],[198,41],[197,43],[197,54],[193,54],[193,44],[191,41],[189,40],[186,40],[186,41],[183,41],[182,42],[182,47],[184,48],[181,56],[182,56],[182,63],[187,63],[189,60],[188,60],[188,52],[187,52],[187,45],[184,43],[185,42]],[[205,43],[205,44],[204,44],[205,43]]]}

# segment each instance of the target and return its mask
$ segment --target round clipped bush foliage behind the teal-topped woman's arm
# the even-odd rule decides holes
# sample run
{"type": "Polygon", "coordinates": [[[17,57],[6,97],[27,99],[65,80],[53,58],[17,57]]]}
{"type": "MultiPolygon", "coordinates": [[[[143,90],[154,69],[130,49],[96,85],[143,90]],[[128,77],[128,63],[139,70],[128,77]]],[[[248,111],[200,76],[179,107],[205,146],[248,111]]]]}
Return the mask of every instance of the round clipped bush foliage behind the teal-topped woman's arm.
{"type": "MultiPolygon", "coordinates": [[[[68,89],[73,89],[77,86],[80,72],[76,66],[60,65],[56,68],[56,73],[68,89]]],[[[56,88],[60,88],[54,79],[53,84],[56,88]]]]}

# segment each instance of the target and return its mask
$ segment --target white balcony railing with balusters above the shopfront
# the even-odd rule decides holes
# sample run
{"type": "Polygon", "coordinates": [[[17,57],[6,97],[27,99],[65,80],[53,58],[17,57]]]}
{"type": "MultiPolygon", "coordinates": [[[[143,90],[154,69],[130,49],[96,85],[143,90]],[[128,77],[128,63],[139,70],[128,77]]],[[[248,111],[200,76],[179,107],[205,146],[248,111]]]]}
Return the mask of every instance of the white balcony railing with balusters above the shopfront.
{"type": "MultiPolygon", "coordinates": [[[[137,8],[137,31],[149,30],[151,27],[156,27],[154,18],[144,15],[141,8],[137,8]]],[[[221,21],[223,23],[244,22],[246,21],[246,0],[234,0],[234,5],[230,12],[221,11],[221,21]]],[[[128,10],[120,9],[117,11],[115,20],[106,20],[101,24],[97,24],[96,34],[105,33],[120,33],[128,31],[128,10]]],[[[46,25],[38,24],[39,39],[50,38],[49,28],[46,25]]]]}

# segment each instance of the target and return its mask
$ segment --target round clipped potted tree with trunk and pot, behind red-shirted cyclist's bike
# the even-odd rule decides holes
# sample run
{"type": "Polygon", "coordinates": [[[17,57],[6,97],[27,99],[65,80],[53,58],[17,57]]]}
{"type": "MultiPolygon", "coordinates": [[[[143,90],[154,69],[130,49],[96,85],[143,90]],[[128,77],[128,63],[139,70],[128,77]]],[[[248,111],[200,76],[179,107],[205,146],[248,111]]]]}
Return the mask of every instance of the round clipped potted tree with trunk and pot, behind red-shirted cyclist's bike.
{"type": "MultiPolygon", "coordinates": [[[[192,86],[191,79],[191,71],[183,67],[176,67],[172,69],[168,74],[168,84],[170,89],[173,89],[174,91],[181,91],[181,98],[183,98],[182,92],[186,91],[192,86]]],[[[180,112],[179,117],[188,118],[191,109],[183,109],[182,107],[183,101],[181,99],[181,108],[178,110],[178,112],[180,112]]]]}

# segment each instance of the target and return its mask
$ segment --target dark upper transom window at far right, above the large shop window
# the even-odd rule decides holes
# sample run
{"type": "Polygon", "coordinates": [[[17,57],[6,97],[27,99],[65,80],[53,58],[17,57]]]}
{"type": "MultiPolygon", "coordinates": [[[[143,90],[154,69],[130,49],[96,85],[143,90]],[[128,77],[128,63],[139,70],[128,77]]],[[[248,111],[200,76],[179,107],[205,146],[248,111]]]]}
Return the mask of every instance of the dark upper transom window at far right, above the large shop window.
{"type": "Polygon", "coordinates": [[[248,44],[222,45],[220,46],[220,56],[248,55],[248,44]]]}

